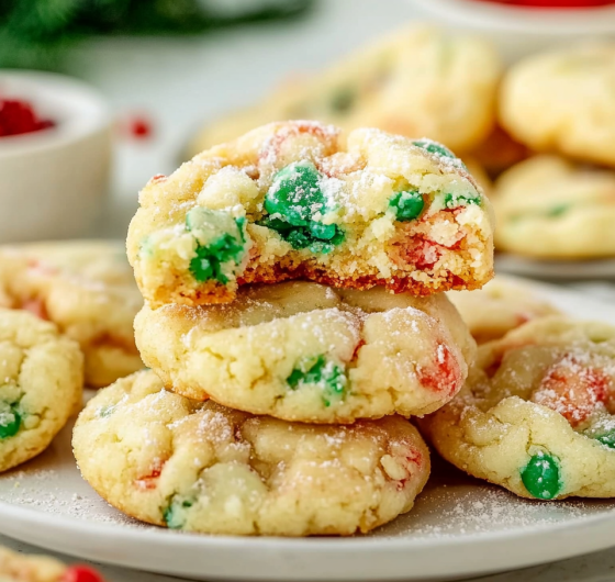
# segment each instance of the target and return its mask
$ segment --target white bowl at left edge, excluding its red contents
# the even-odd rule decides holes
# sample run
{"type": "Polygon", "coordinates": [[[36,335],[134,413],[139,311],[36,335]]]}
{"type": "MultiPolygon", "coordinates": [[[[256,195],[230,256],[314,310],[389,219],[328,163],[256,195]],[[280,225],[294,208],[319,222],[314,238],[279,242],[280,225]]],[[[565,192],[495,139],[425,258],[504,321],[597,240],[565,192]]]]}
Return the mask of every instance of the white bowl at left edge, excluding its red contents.
{"type": "Polygon", "coordinates": [[[34,71],[0,71],[0,96],[56,123],[0,137],[0,243],[91,235],[111,169],[104,100],[80,81],[34,71]]]}

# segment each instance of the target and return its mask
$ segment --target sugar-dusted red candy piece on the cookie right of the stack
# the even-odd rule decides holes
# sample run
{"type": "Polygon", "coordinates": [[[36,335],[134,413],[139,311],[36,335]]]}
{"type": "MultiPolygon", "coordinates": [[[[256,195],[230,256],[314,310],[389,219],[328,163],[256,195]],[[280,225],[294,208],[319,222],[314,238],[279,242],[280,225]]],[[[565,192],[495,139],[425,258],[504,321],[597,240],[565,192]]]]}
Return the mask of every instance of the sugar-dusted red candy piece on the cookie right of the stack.
{"type": "Polygon", "coordinates": [[[611,378],[601,370],[566,356],[549,368],[532,395],[536,404],[561,414],[573,428],[611,399],[611,378]]]}

